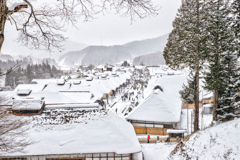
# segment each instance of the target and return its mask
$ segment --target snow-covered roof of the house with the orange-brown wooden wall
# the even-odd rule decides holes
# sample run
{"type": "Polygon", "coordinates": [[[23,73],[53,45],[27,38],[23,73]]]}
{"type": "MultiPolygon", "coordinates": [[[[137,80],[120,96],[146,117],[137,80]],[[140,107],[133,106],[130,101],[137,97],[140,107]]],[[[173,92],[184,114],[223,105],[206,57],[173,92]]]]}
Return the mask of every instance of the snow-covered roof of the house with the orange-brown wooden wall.
{"type": "MultiPolygon", "coordinates": [[[[164,76],[158,78],[152,85],[163,88],[163,92],[152,93],[150,96],[138,105],[127,119],[176,123],[180,120],[181,104],[179,90],[182,89],[183,83],[187,82],[186,76],[164,76]]],[[[151,85],[150,85],[151,86],[151,85]]]]}

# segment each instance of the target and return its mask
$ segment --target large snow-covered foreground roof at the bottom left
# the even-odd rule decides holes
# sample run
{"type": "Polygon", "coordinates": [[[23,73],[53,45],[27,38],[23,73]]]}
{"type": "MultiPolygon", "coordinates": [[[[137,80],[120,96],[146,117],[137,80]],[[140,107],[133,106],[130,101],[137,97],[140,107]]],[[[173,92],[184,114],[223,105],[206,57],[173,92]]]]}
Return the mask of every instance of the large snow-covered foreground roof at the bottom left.
{"type": "MultiPolygon", "coordinates": [[[[64,115],[59,116],[63,117],[64,115]]],[[[85,113],[71,123],[61,125],[53,124],[54,120],[44,121],[45,119],[38,117],[34,116],[34,119],[38,119],[38,121],[33,120],[26,133],[28,138],[35,142],[25,148],[26,153],[15,152],[1,155],[141,152],[141,146],[133,126],[113,113],[96,111],[85,113]]]]}

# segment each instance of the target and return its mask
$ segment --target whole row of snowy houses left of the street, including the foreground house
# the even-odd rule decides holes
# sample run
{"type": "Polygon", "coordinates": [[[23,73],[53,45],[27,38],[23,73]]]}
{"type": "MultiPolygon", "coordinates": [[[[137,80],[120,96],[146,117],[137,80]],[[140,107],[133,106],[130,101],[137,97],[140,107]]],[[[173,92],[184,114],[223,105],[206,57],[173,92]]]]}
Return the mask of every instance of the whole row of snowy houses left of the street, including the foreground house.
{"type": "Polygon", "coordinates": [[[128,72],[104,72],[18,85],[7,94],[12,97],[14,116],[24,114],[31,122],[25,134],[32,143],[24,152],[1,151],[1,159],[132,160],[141,156],[132,125],[98,103],[130,77],[128,72]]]}

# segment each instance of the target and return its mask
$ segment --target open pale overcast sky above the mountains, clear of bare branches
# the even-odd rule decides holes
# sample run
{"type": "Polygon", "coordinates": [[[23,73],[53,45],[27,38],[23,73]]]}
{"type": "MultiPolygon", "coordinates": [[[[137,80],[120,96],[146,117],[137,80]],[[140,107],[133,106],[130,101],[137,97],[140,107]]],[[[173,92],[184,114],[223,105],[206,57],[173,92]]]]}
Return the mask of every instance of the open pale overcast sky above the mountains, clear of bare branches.
{"type": "MultiPolygon", "coordinates": [[[[146,18],[131,24],[130,19],[114,14],[99,14],[97,19],[91,22],[79,21],[78,29],[69,26],[64,33],[71,41],[88,45],[118,45],[134,40],[155,38],[171,32],[172,21],[175,18],[181,0],[153,0],[161,7],[156,17],[146,18]]],[[[17,48],[14,42],[17,38],[17,31],[9,23],[5,28],[5,42],[2,52],[7,51],[6,47],[17,48]],[[4,47],[5,46],[5,47],[4,47]]],[[[21,48],[21,47],[20,47],[21,48]]],[[[24,49],[25,50],[25,49],[24,49]]]]}

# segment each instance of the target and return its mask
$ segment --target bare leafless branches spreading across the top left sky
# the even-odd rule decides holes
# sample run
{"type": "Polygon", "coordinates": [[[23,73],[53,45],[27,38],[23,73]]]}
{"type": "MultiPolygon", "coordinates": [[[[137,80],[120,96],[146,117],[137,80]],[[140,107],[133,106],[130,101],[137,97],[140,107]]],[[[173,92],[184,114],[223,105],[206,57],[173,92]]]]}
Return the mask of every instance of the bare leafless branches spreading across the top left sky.
{"type": "Polygon", "coordinates": [[[23,1],[27,6],[19,5],[7,14],[19,31],[17,40],[30,49],[47,51],[52,51],[53,48],[61,51],[62,42],[66,40],[61,32],[66,31],[66,25],[69,24],[77,27],[79,19],[87,22],[95,19],[99,13],[115,10],[116,14],[129,17],[132,22],[137,18],[156,16],[159,9],[152,0],[52,0],[42,3],[23,1]]]}

